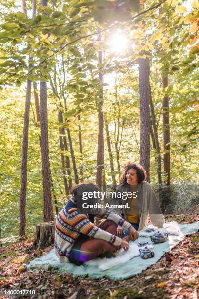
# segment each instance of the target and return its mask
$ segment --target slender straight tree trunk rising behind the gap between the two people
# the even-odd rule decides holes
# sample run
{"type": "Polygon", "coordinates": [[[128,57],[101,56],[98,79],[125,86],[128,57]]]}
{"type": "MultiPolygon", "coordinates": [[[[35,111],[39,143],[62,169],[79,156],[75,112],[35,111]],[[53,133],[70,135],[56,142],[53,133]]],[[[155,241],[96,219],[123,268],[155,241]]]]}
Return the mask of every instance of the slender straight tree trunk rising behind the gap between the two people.
{"type": "MultiPolygon", "coordinates": [[[[98,41],[101,41],[101,35],[99,34],[98,41]]],[[[98,61],[102,63],[102,51],[98,52],[98,61]]],[[[103,83],[103,74],[99,73],[100,83],[103,83]]],[[[98,103],[98,152],[97,152],[97,173],[96,184],[99,188],[102,188],[102,180],[104,175],[104,134],[103,134],[103,87],[100,89],[100,99],[98,103]]],[[[104,184],[103,184],[104,185],[104,184]]]]}

